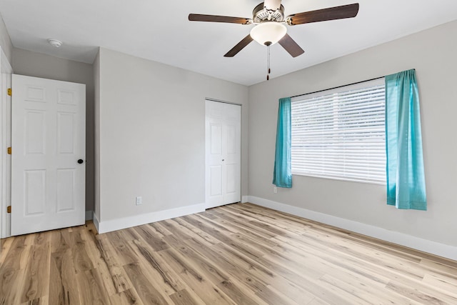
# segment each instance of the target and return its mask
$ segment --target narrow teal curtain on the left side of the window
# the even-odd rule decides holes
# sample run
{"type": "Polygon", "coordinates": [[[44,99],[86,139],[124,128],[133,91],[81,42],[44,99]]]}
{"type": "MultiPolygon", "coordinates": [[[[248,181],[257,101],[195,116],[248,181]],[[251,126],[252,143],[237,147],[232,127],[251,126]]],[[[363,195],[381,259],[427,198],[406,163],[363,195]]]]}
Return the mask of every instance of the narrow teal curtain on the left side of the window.
{"type": "Polygon", "coordinates": [[[279,99],[276,127],[273,184],[279,187],[292,187],[291,140],[291,98],[286,97],[279,99]]]}

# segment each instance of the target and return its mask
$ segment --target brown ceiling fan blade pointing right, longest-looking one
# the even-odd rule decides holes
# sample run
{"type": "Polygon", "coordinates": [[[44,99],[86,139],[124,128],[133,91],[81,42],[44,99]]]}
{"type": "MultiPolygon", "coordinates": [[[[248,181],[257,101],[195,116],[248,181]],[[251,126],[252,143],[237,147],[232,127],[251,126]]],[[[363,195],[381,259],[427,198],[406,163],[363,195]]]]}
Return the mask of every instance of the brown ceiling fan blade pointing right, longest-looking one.
{"type": "Polygon", "coordinates": [[[311,22],[328,21],[335,19],[353,18],[357,16],[358,3],[343,6],[334,6],[328,9],[305,11],[287,17],[287,23],[291,26],[296,24],[310,24],[311,22]]]}

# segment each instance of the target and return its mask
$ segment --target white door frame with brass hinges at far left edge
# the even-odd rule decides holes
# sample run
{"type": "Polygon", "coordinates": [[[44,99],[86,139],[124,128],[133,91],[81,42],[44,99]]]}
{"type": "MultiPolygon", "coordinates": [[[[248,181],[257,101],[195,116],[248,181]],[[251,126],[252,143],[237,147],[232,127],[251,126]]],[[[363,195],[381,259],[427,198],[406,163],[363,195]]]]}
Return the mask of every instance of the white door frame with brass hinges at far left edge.
{"type": "Polygon", "coordinates": [[[11,88],[13,69],[9,64],[3,49],[0,47],[0,238],[11,236],[11,214],[6,213],[6,207],[11,204],[11,155],[6,148],[11,146],[11,96],[7,89],[11,88]]]}

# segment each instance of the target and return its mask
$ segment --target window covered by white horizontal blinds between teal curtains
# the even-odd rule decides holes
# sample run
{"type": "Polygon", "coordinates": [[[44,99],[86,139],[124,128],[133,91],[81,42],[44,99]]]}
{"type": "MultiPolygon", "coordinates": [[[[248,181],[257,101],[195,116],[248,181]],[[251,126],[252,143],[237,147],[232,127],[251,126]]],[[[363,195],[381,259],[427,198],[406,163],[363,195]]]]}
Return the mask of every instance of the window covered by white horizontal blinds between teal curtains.
{"type": "Polygon", "coordinates": [[[294,97],[292,174],[386,183],[384,79],[294,97]]]}

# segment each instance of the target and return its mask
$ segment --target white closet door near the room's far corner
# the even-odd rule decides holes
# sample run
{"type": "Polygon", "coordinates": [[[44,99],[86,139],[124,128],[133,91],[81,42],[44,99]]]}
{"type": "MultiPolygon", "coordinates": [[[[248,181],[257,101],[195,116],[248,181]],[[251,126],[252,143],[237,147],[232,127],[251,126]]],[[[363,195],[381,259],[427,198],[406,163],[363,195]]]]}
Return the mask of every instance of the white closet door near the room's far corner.
{"type": "Polygon", "coordinates": [[[241,199],[241,106],[206,100],[206,209],[241,199]]]}

